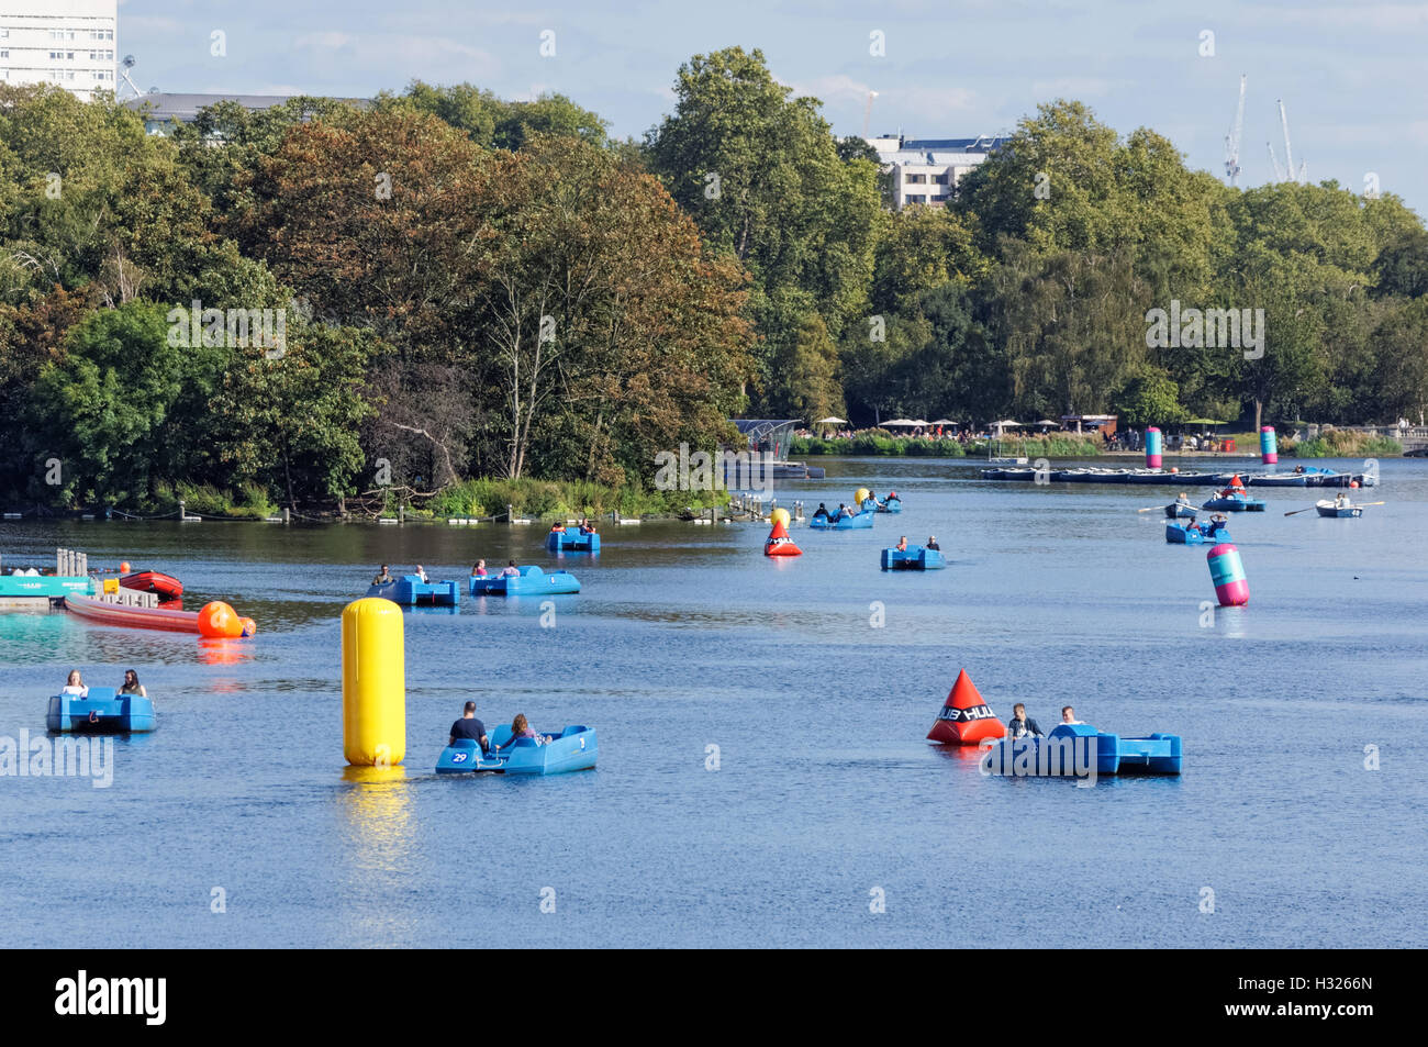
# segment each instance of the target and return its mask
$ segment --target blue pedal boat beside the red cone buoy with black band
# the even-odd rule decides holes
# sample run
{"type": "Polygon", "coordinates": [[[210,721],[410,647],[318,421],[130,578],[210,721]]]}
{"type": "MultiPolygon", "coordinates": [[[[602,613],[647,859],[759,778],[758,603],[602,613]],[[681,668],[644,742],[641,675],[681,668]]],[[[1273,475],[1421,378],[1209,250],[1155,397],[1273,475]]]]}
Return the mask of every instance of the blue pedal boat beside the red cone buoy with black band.
{"type": "Polygon", "coordinates": [[[990,767],[992,774],[1070,777],[1077,774],[1078,763],[1090,768],[1092,746],[1097,776],[1180,774],[1184,766],[1178,734],[1122,738],[1091,724],[1062,723],[1041,738],[1001,738],[991,747],[990,767]]]}

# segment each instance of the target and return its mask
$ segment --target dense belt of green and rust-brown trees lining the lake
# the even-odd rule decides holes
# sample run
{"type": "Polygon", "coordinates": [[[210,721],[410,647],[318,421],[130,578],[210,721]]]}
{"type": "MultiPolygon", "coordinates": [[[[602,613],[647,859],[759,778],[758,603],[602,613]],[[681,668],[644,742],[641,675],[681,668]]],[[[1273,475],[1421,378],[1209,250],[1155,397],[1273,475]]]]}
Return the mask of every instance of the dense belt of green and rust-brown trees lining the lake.
{"type": "Polygon", "coordinates": [[[654,456],[740,414],[1428,404],[1428,231],[1392,194],[1231,189],[1062,100],[945,207],[892,213],[820,109],[738,47],[681,66],[643,141],[470,84],[169,136],[0,86],[0,500],[633,513],[688,504],[648,493],[654,456]],[[1148,347],[1155,309],[1194,347],[1148,347]],[[1248,310],[1245,344],[1200,347],[1204,309],[1248,310]]]}

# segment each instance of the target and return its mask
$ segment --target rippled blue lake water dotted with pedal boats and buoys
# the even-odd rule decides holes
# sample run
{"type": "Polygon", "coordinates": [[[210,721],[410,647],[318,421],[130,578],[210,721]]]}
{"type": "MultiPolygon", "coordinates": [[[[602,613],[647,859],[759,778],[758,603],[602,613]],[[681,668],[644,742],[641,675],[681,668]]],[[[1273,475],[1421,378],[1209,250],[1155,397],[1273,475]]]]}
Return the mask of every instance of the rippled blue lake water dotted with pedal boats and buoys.
{"type": "Polygon", "coordinates": [[[1359,497],[1388,504],[1361,520],[1287,519],[1322,496],[1257,490],[1269,511],[1231,519],[1250,606],[1211,614],[1205,548],[1135,511],[1172,489],[821,464],[780,501],[871,484],[905,511],[795,524],[788,560],[761,556],[764,524],[607,527],[598,558],[561,557],[584,590],[553,598],[548,627],[540,600],[464,591],[457,614],[407,614],[407,757],[383,781],[343,760],[341,608],[383,561],[463,584],[478,556],[550,567],[543,528],[0,524],[6,564],[124,558],[260,628],[204,646],[0,614],[0,736],[43,734],[71,667],[90,684],[137,668],[160,717],[117,741],[109,788],[0,778],[0,940],[1428,944],[1428,461],[1384,461],[1359,497]],[[930,533],[947,570],[878,570],[880,548],[930,533]],[[1002,720],[1024,701],[1050,728],[1074,704],[1104,730],[1180,734],[1185,773],[984,777],[924,740],[962,667],[1002,720]],[[595,727],[598,768],[438,778],[467,698],[488,727],[595,727]]]}

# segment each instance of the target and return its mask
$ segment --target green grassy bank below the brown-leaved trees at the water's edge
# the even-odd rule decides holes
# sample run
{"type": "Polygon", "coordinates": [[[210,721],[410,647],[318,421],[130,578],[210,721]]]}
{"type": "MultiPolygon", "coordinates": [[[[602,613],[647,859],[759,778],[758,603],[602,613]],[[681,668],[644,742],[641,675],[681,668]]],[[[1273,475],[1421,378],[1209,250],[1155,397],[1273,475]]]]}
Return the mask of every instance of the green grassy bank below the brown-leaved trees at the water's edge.
{"type": "Polygon", "coordinates": [[[414,511],[434,517],[483,517],[500,516],[511,506],[518,516],[530,517],[645,516],[727,503],[727,491],[647,491],[581,480],[466,480],[428,499],[414,511]]]}

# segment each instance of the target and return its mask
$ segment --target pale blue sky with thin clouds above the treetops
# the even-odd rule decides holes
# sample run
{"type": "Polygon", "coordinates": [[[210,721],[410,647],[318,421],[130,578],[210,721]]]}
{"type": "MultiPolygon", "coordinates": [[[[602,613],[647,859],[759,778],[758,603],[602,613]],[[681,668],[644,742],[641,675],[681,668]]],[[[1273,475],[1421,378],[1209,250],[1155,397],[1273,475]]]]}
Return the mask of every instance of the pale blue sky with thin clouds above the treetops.
{"type": "Polygon", "coordinates": [[[823,99],[838,134],[861,133],[870,90],[871,130],[917,137],[1010,130],[1065,96],[1121,133],[1165,134],[1215,174],[1247,73],[1241,186],[1272,177],[1267,141],[1284,160],[1284,99],[1309,180],[1362,191],[1372,171],[1428,214],[1428,3],[120,3],[120,49],[144,90],[370,96],[466,80],[503,97],[561,91],[621,137],[670,110],[680,63],[731,44],[763,49],[783,83],[823,99]]]}

